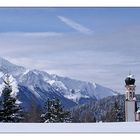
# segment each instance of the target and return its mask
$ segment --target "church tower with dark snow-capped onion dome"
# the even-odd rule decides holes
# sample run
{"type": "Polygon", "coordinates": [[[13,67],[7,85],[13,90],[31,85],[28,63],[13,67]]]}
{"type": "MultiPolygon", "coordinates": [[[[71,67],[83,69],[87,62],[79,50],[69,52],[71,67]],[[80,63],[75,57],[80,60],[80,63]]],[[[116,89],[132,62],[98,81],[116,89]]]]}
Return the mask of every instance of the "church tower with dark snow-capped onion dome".
{"type": "Polygon", "coordinates": [[[125,121],[136,121],[135,78],[133,75],[125,79],[125,121]]]}

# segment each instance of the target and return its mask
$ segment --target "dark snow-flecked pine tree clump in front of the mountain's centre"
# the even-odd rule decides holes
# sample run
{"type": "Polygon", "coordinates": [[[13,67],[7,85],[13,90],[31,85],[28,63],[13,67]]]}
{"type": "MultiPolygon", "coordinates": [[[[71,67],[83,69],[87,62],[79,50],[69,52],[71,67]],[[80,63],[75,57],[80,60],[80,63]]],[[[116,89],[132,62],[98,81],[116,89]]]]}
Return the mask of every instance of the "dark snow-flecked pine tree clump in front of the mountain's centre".
{"type": "Polygon", "coordinates": [[[53,99],[47,101],[45,107],[46,113],[41,115],[43,122],[46,123],[59,123],[59,122],[71,122],[70,112],[64,111],[59,99],[53,99]]]}

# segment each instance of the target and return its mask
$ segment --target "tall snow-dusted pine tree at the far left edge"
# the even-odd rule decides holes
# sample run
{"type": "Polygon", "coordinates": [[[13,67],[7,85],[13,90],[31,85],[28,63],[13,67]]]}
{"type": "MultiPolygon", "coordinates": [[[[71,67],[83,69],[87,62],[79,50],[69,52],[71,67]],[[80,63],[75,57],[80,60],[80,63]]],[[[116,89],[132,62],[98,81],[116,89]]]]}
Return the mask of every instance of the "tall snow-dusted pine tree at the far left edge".
{"type": "Polygon", "coordinates": [[[0,122],[20,122],[23,119],[21,108],[19,104],[17,104],[16,93],[14,93],[12,89],[12,84],[14,82],[13,77],[9,75],[6,75],[5,79],[3,79],[0,122]]]}

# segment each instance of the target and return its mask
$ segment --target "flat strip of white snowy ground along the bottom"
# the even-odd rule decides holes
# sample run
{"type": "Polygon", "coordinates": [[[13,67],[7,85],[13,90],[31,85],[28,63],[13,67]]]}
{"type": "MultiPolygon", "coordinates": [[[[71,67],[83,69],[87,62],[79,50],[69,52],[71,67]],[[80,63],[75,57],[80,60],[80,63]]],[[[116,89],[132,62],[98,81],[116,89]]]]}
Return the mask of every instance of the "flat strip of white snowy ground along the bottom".
{"type": "Polygon", "coordinates": [[[0,123],[0,133],[140,133],[140,122],[0,123]]]}

